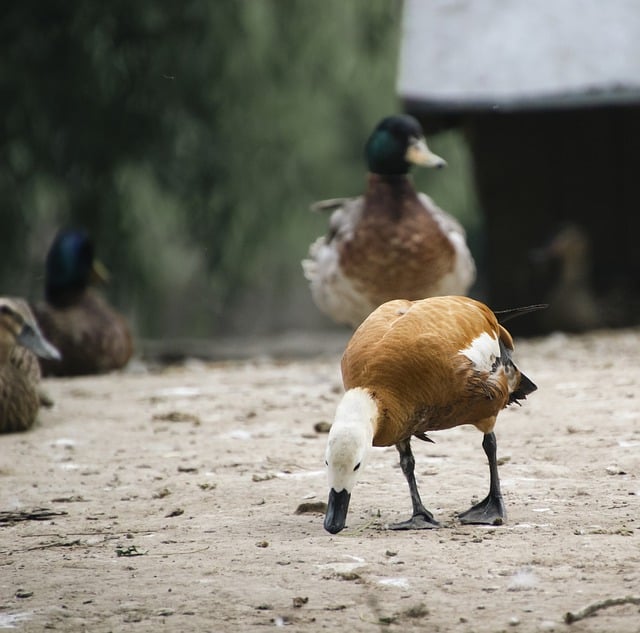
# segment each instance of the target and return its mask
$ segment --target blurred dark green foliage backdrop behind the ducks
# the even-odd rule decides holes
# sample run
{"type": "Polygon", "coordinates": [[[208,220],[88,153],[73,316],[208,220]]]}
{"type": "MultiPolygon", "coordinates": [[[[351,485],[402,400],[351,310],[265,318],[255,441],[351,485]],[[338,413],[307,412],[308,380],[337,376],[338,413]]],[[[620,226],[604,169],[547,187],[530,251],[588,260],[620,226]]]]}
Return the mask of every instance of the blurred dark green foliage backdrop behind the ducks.
{"type": "Polygon", "coordinates": [[[4,3],[1,292],[39,297],[75,225],[140,335],[325,323],[299,261],[326,218],[307,207],[362,190],[400,25],[390,0],[4,3]]]}

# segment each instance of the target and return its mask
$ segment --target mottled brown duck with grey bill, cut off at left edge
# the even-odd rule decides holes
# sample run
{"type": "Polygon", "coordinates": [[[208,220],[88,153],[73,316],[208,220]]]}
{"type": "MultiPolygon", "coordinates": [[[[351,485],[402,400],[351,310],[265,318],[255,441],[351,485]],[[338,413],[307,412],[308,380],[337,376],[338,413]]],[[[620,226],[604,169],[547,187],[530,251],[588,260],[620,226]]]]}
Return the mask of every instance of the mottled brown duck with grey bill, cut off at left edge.
{"type": "Polygon", "coordinates": [[[26,431],[40,407],[41,358],[60,358],[22,299],[0,297],[0,433],[26,431]]]}

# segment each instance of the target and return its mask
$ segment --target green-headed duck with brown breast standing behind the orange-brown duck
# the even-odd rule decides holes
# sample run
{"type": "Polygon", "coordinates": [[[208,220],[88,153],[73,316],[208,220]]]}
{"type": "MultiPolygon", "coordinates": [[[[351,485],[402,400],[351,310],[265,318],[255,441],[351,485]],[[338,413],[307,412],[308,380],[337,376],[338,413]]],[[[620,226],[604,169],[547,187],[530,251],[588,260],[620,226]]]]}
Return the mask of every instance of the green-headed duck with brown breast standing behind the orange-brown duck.
{"type": "Polygon", "coordinates": [[[332,211],[329,232],[302,262],[318,308],[353,327],[391,299],[466,294],[476,274],[460,223],[416,192],[409,177],[412,164],[446,165],[427,147],[418,121],[383,119],[365,156],[364,195],[312,206],[332,211]]]}

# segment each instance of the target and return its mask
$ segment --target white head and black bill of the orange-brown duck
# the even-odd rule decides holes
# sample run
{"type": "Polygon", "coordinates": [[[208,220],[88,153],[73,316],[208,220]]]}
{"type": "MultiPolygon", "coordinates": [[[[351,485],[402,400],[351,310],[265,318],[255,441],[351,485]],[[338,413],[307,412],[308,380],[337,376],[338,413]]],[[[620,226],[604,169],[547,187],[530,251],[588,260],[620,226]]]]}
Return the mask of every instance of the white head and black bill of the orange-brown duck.
{"type": "Polygon", "coordinates": [[[378,406],[366,389],[349,389],[336,410],[325,454],[329,501],[324,528],[336,534],[344,528],[351,491],[365,465],[378,406]]]}

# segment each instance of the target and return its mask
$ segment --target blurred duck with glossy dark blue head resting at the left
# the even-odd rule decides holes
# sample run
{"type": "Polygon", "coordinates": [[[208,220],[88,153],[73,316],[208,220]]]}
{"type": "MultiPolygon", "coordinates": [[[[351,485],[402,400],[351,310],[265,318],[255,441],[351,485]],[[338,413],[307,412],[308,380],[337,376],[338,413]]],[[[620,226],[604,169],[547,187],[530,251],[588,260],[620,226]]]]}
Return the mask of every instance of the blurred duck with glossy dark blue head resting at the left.
{"type": "Polygon", "coordinates": [[[106,280],[84,231],[64,230],[46,260],[45,302],[33,306],[44,335],[62,354],[43,361],[45,375],[78,376],[124,367],[133,352],[125,319],[90,286],[106,280]]]}

